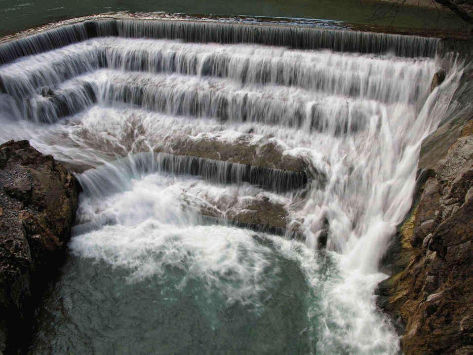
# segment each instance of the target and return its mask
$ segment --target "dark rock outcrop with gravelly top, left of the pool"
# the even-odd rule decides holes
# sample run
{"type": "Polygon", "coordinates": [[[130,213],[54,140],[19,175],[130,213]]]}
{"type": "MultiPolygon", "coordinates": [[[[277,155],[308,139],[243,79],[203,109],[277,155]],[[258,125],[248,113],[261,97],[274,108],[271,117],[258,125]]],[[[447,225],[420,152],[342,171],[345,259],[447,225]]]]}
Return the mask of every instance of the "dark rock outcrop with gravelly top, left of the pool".
{"type": "Polygon", "coordinates": [[[0,354],[28,338],[39,291],[64,259],[79,189],[28,141],[0,145],[0,354]]]}

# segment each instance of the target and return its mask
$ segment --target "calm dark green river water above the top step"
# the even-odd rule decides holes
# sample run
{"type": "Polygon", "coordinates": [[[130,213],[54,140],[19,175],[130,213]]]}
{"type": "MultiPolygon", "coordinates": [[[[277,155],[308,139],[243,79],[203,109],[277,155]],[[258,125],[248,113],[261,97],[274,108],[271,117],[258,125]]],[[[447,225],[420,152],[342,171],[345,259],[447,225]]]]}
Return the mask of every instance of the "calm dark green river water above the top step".
{"type": "Polygon", "coordinates": [[[214,17],[268,16],[293,18],[290,21],[296,23],[328,26],[333,25],[333,21],[405,28],[458,29],[466,25],[448,10],[406,6],[394,11],[392,6],[380,1],[366,0],[0,0],[0,35],[49,22],[117,11],[212,14],[214,17]]]}

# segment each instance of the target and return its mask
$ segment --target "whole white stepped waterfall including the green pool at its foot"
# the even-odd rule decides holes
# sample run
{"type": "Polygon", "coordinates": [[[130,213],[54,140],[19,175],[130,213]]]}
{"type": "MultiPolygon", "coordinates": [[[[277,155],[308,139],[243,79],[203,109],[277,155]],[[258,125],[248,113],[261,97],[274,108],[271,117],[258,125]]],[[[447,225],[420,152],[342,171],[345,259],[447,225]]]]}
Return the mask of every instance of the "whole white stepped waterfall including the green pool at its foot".
{"type": "Polygon", "coordinates": [[[0,139],[93,167],[31,354],[397,354],[373,291],[461,74],[430,93],[436,44],[138,19],[2,44],[0,139]],[[205,217],[261,201],[283,236],[205,217]]]}

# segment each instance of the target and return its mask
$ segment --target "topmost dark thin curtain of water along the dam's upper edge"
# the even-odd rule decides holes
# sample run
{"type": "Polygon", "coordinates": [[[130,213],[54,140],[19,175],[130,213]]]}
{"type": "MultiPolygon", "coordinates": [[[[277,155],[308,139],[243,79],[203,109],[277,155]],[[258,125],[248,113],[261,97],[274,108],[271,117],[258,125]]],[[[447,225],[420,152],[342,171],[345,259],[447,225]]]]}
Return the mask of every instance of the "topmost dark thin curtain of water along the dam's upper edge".
{"type": "Polygon", "coordinates": [[[182,39],[190,42],[259,43],[299,49],[327,48],[360,53],[393,50],[400,56],[434,56],[436,40],[426,37],[377,34],[289,26],[254,26],[197,21],[102,19],[66,25],[1,45],[0,63],[38,54],[95,37],[182,39]]]}

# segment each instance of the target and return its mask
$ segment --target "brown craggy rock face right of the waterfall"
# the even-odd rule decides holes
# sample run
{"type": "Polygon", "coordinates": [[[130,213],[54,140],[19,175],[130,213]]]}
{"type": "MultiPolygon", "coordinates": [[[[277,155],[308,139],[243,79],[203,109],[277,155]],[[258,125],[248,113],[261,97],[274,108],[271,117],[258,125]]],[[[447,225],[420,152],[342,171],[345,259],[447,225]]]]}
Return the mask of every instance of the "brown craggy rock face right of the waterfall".
{"type": "Polygon", "coordinates": [[[409,264],[380,284],[405,354],[473,353],[473,119],[436,162],[400,229],[409,264]]]}

